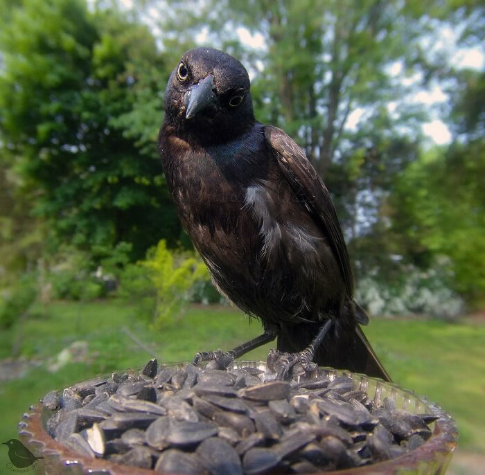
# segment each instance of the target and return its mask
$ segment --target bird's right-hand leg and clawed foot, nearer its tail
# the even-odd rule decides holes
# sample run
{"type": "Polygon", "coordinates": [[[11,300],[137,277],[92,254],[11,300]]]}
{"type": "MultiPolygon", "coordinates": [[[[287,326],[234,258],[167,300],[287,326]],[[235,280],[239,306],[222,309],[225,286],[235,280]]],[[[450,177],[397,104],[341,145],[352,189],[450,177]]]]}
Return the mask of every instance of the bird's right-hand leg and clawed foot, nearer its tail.
{"type": "Polygon", "coordinates": [[[268,368],[276,373],[276,379],[283,380],[290,372],[290,369],[297,363],[301,364],[301,367],[305,373],[311,373],[317,365],[312,362],[315,357],[315,351],[320,346],[320,343],[324,340],[324,337],[330,326],[333,324],[333,320],[327,320],[318,330],[317,336],[312,340],[303,351],[297,353],[282,352],[279,350],[270,350],[267,355],[266,362],[268,368]]]}

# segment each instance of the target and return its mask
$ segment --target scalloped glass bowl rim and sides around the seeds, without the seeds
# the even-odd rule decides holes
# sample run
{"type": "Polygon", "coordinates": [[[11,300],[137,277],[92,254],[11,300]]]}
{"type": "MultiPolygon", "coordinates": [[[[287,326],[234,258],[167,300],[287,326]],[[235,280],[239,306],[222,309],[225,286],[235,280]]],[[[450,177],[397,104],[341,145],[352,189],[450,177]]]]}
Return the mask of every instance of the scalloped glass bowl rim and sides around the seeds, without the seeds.
{"type": "MultiPolygon", "coordinates": [[[[161,365],[183,368],[187,362],[161,365]]],[[[253,366],[267,372],[264,361],[235,361],[231,368],[253,366]]],[[[318,368],[311,375],[295,375],[295,382],[305,379],[327,376],[330,379],[346,375],[357,384],[357,388],[366,391],[367,395],[378,405],[386,397],[396,403],[398,409],[405,409],[410,413],[430,413],[438,417],[436,422],[430,424],[432,436],[423,445],[402,456],[385,460],[384,462],[365,465],[353,469],[337,471],[313,472],[320,475],[440,475],[446,473],[453,451],[457,445],[458,430],[452,420],[440,406],[428,401],[425,397],[416,395],[413,391],[400,388],[396,384],[383,382],[380,379],[368,377],[349,371],[334,370],[333,368],[318,368]]],[[[107,474],[107,475],[153,475],[153,470],[141,469],[130,465],[119,465],[110,460],[89,458],[76,454],[55,441],[46,431],[46,421],[51,416],[42,403],[32,406],[19,422],[19,436],[24,445],[35,454],[44,457],[38,460],[33,467],[36,474],[48,475],[81,475],[81,474],[107,474]]],[[[277,472],[271,472],[276,475],[277,472]]],[[[168,474],[167,474],[168,475],[168,474]]],[[[175,475],[175,474],[170,474],[175,475]]]]}

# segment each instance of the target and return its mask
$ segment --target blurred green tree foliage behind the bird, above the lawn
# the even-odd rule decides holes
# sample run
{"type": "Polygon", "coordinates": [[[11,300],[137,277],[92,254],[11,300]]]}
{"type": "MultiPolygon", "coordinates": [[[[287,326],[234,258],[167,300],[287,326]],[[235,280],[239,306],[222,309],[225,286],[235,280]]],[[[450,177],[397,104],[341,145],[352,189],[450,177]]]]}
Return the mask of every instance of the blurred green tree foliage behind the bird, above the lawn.
{"type": "Polygon", "coordinates": [[[3,267],[33,267],[48,235],[53,251],[85,253],[86,275],[126,268],[146,289],[141,271],[155,269],[128,262],[186,239],[157,157],[163,93],[179,56],[207,44],[248,66],[256,116],[324,177],[358,277],[398,285],[403,264],[447,256],[455,288],[478,298],[484,78],[435,47],[443,27],[465,47],[483,41],[478,1],[86,1],[0,0],[3,267]],[[436,84],[455,140],[423,154],[427,107],[409,94],[436,84]]]}

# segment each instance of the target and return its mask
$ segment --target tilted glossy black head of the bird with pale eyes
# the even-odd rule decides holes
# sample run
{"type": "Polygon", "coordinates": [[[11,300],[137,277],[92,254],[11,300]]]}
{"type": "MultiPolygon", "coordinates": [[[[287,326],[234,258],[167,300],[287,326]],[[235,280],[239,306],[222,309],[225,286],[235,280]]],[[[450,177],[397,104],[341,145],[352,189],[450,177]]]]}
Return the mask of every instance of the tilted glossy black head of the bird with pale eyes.
{"type": "Polygon", "coordinates": [[[254,124],[243,64],[214,48],[187,51],[168,80],[166,123],[201,143],[227,142],[254,124]]]}

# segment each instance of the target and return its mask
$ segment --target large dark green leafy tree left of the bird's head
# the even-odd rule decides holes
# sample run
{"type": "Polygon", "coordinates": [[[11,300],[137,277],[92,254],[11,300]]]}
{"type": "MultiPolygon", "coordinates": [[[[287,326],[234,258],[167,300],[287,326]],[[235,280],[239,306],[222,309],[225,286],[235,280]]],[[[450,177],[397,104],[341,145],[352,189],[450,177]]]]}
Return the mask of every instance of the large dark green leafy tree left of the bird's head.
{"type": "Polygon", "coordinates": [[[18,1],[6,17],[1,140],[51,243],[132,242],[141,258],[161,237],[174,242],[155,151],[168,72],[148,28],[84,0],[18,1]]]}

